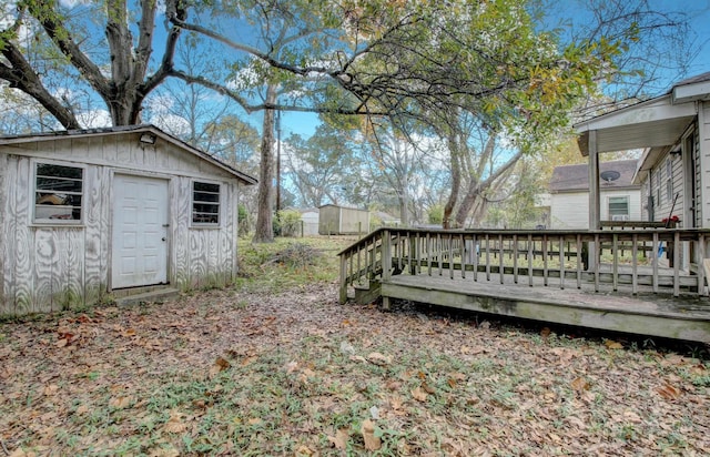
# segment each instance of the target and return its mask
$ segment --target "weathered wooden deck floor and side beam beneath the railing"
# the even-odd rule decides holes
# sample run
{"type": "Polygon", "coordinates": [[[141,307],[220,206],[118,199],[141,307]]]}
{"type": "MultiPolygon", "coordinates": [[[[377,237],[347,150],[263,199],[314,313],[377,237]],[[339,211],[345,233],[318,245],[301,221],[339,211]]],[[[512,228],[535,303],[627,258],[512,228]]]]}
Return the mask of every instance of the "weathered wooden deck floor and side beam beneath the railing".
{"type": "Polygon", "coordinates": [[[710,343],[710,299],[697,295],[642,292],[637,295],[610,291],[566,288],[541,283],[530,287],[515,284],[505,275],[478,281],[449,275],[394,275],[382,284],[382,295],[433,305],[577,325],[710,343]]]}

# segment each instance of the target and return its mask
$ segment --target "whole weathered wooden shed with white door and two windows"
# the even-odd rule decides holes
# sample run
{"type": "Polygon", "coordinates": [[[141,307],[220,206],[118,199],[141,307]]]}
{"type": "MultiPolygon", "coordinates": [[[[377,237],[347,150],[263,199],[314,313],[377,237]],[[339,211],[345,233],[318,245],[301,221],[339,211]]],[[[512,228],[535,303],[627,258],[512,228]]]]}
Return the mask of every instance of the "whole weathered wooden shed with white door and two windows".
{"type": "Polygon", "coordinates": [[[0,138],[0,314],[229,283],[254,183],[152,125],[0,138]]]}

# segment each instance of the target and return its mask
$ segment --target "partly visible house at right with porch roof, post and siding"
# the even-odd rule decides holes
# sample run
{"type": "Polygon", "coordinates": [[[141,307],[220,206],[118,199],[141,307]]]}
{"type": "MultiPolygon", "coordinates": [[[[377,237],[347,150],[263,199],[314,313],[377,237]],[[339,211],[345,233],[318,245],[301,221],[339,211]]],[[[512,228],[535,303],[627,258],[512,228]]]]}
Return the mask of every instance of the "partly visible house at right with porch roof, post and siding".
{"type": "MultiPolygon", "coordinates": [[[[642,217],[677,219],[677,227],[710,228],[710,72],[676,83],[667,93],[576,125],[582,154],[592,170],[607,151],[645,149],[635,183],[641,186],[642,217]]],[[[590,227],[598,227],[599,181],[589,194],[590,227]],[[596,200],[598,201],[598,200],[596,200]]],[[[683,247],[683,267],[699,265],[710,253],[683,247]]]]}

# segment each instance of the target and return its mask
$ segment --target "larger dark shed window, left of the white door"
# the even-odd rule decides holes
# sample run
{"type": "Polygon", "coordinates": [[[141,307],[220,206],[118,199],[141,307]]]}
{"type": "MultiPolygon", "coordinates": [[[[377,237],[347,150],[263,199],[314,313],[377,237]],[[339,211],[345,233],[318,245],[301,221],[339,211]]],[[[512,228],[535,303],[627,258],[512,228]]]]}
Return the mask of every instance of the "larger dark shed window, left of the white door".
{"type": "Polygon", "coordinates": [[[53,163],[34,164],[34,222],[80,223],[84,170],[53,163]]]}

